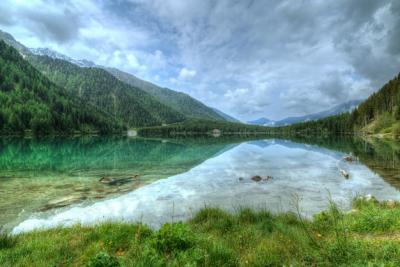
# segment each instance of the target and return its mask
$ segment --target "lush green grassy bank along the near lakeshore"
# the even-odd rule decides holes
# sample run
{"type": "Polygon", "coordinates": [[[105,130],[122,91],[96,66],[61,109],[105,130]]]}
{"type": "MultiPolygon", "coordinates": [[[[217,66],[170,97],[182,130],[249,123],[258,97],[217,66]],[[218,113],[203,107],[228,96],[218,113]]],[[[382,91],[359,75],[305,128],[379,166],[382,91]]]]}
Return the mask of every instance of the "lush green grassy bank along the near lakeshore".
{"type": "Polygon", "coordinates": [[[101,224],[0,239],[0,266],[399,266],[400,205],[357,199],[312,221],[207,208],[153,231],[101,224]]]}

